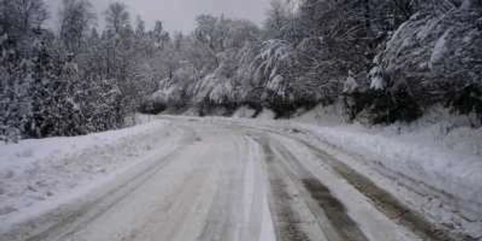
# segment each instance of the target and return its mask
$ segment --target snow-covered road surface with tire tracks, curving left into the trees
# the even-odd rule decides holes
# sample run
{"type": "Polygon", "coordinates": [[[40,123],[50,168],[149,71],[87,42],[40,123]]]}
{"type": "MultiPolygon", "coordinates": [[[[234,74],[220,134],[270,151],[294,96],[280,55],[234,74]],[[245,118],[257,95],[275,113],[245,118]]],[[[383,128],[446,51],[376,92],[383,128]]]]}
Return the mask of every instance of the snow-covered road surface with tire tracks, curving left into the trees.
{"type": "Polygon", "coordinates": [[[464,239],[428,222],[301,129],[165,120],[176,129],[176,145],[152,143],[143,161],[101,185],[3,225],[0,240],[464,239]]]}

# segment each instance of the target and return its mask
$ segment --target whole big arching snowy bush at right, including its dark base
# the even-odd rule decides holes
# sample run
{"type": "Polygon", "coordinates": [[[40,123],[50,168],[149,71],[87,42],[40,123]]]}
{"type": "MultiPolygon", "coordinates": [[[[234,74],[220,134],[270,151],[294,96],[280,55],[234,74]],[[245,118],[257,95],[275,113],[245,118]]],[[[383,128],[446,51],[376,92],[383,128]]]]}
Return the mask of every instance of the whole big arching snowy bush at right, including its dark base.
{"type": "Polygon", "coordinates": [[[375,58],[366,93],[371,101],[362,114],[368,122],[410,121],[435,103],[461,114],[482,109],[472,97],[482,83],[481,6],[444,4],[436,11],[421,7],[375,58]]]}

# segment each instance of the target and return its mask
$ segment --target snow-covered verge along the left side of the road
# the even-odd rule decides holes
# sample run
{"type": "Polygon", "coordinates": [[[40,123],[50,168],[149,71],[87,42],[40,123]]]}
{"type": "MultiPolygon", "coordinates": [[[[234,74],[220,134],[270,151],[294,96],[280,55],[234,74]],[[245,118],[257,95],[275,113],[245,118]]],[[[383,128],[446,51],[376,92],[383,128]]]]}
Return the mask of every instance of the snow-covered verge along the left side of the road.
{"type": "Polygon", "coordinates": [[[156,143],[172,147],[182,136],[176,132],[168,121],[151,121],[87,136],[1,144],[0,220],[69,196],[155,151],[156,143]]]}

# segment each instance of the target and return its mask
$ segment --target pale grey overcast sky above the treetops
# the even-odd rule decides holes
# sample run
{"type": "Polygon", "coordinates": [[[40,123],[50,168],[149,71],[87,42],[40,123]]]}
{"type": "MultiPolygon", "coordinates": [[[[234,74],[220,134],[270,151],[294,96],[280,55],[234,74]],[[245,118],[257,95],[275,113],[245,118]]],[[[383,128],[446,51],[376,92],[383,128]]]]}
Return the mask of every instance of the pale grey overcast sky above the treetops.
{"type": "MultiPolygon", "coordinates": [[[[51,26],[55,26],[56,13],[61,0],[45,0],[52,12],[51,26]]],[[[98,23],[103,26],[103,11],[114,0],[90,0],[98,14],[98,23]]],[[[249,19],[262,23],[269,6],[269,0],[121,0],[129,7],[131,20],[136,21],[139,14],[146,21],[147,28],[152,28],[154,21],[161,20],[169,31],[191,32],[194,19],[198,14],[210,13],[226,17],[249,19]]],[[[134,25],[134,24],[133,24],[134,25]]]]}

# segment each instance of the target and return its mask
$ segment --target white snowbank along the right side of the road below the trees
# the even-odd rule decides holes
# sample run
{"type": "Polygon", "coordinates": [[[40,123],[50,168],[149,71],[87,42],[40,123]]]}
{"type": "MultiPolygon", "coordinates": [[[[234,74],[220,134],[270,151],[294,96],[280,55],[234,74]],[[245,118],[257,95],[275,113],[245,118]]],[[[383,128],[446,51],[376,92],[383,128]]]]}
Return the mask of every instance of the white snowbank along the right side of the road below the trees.
{"type": "MultiPolygon", "coordinates": [[[[482,213],[482,127],[470,127],[474,119],[434,107],[414,123],[364,127],[343,124],[341,113],[337,106],[319,106],[275,123],[307,129],[325,143],[456,197],[465,211],[482,213]]],[[[269,119],[250,123],[273,127],[269,119]]],[[[474,213],[465,218],[482,222],[474,213]]]]}

